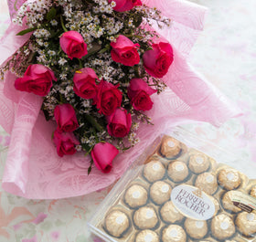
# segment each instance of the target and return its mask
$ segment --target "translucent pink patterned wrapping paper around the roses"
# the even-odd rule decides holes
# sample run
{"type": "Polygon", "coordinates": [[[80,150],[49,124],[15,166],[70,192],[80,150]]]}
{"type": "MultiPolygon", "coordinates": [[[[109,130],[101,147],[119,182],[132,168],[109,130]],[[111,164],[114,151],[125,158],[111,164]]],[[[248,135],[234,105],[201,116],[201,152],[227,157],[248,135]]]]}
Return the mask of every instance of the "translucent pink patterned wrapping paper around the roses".
{"type": "MultiPolygon", "coordinates": [[[[9,1],[10,16],[24,3],[9,1]]],[[[86,195],[112,184],[155,137],[171,125],[182,121],[208,121],[219,126],[238,114],[219,90],[187,63],[191,47],[203,29],[207,9],[181,0],[143,0],[157,7],[172,20],[169,28],[155,29],[174,48],[174,62],[165,75],[168,89],[154,94],[154,107],[147,112],[154,126],[141,124],[140,143],[120,153],[110,174],[93,167],[87,174],[91,158],[84,153],[60,158],[51,141],[56,124],[46,121],[40,111],[42,98],[14,88],[16,76],[6,73],[0,82],[0,125],[11,134],[2,185],[5,191],[27,198],[57,199],[86,195]]],[[[0,41],[0,65],[26,43],[29,35],[16,37],[25,26],[11,24],[0,41]]]]}

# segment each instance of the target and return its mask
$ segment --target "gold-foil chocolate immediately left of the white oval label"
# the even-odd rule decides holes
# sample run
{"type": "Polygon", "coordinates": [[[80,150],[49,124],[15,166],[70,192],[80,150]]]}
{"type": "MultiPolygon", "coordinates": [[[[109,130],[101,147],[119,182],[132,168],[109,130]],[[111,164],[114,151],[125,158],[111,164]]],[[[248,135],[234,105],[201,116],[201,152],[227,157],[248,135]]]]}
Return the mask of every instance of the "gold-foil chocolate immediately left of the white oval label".
{"type": "Polygon", "coordinates": [[[162,205],[170,199],[172,187],[163,181],[157,181],[150,187],[149,195],[156,205],[162,205]]]}

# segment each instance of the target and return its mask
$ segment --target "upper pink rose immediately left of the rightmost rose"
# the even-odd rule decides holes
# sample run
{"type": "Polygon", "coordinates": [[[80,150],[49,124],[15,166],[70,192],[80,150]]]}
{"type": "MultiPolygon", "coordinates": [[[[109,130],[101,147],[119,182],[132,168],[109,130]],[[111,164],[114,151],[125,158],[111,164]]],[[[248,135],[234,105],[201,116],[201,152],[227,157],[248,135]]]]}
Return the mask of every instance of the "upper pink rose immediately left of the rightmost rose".
{"type": "Polygon", "coordinates": [[[133,67],[140,62],[140,55],[137,48],[139,44],[133,44],[133,41],[128,37],[120,35],[116,38],[116,42],[111,42],[112,60],[122,63],[124,66],[133,67]]]}

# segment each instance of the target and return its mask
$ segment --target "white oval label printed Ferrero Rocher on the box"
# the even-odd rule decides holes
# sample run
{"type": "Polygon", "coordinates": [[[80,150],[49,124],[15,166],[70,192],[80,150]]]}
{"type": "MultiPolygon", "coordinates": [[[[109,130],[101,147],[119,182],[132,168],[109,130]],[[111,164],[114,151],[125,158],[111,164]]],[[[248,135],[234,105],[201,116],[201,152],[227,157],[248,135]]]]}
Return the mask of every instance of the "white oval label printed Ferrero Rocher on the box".
{"type": "Polygon", "coordinates": [[[171,200],[180,213],[193,219],[208,220],[215,213],[212,200],[196,186],[177,185],[172,190],[171,200]]]}

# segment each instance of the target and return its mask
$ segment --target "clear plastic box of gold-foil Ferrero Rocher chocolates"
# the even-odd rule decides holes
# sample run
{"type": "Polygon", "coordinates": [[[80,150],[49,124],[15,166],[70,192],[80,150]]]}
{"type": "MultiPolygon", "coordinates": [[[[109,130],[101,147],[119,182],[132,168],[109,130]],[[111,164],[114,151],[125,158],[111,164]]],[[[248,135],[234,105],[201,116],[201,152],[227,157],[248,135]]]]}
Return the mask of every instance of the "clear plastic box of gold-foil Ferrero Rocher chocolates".
{"type": "Polygon", "coordinates": [[[188,141],[158,137],[104,199],[91,233],[112,242],[256,241],[256,180],[188,141]]]}

